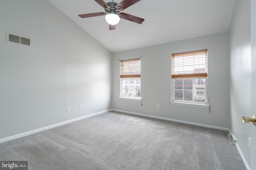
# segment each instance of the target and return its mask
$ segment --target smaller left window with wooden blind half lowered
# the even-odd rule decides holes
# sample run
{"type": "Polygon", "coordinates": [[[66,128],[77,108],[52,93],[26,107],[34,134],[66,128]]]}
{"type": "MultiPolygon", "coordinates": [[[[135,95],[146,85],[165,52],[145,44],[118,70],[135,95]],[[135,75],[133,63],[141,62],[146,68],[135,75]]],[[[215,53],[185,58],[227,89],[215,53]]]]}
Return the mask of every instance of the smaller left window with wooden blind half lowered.
{"type": "Polygon", "coordinates": [[[120,61],[120,97],[141,99],[140,59],[120,61]]]}

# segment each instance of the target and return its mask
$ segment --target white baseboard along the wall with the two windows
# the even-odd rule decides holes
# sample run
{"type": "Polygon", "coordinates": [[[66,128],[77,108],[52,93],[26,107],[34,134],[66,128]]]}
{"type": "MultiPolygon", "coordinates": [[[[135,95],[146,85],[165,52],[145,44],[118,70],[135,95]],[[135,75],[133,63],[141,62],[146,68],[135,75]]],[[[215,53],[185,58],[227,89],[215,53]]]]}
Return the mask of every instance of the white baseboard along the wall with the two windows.
{"type": "Polygon", "coordinates": [[[193,123],[193,122],[188,122],[188,121],[181,121],[181,120],[169,119],[169,118],[165,118],[165,117],[158,117],[158,116],[152,116],[152,115],[145,115],[145,114],[141,114],[141,113],[134,113],[134,112],[123,111],[123,110],[118,110],[118,109],[112,109],[112,110],[113,111],[123,112],[123,113],[129,113],[129,114],[133,114],[133,115],[140,115],[140,116],[144,116],[144,117],[152,117],[152,118],[155,118],[155,119],[162,119],[162,120],[174,121],[174,122],[179,122],[179,123],[186,123],[186,124],[189,124],[189,125],[208,127],[208,128],[218,129],[218,130],[222,130],[222,131],[229,131],[228,128],[224,128],[224,127],[205,125],[205,124],[200,124],[200,123],[193,123]]]}

